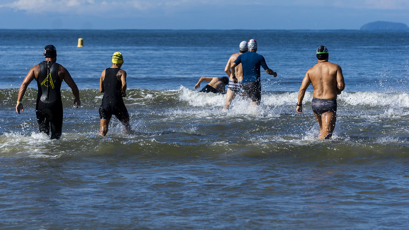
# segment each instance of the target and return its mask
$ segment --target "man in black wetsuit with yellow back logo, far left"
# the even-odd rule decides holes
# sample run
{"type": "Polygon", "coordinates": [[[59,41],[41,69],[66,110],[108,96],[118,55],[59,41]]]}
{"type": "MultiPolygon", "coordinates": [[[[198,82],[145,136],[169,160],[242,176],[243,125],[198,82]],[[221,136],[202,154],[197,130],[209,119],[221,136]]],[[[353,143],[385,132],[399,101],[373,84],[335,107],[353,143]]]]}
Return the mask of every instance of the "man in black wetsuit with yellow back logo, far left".
{"type": "Polygon", "coordinates": [[[57,50],[54,45],[44,48],[45,60],[30,68],[18,90],[16,112],[24,111],[21,104],[27,87],[34,79],[37,81],[38,93],[36,103],[36,117],[40,132],[50,135],[51,139],[60,139],[62,132],[62,102],[61,83],[65,81],[73,91],[74,104],[81,105],[80,94],[70,73],[62,65],[56,62],[57,50]]]}

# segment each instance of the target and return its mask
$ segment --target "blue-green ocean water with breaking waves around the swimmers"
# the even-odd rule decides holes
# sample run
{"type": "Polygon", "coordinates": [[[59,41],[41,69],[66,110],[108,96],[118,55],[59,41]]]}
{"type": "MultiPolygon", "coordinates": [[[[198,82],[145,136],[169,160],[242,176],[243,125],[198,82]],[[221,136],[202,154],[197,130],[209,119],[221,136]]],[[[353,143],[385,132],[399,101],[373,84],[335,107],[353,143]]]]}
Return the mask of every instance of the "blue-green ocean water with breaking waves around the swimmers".
{"type": "Polygon", "coordinates": [[[0,228],[407,228],[408,51],[399,31],[0,30],[0,228]],[[252,38],[278,77],[262,72],[260,106],[224,111],[225,95],[193,87],[252,38]],[[35,82],[15,112],[47,44],[80,88],[75,108],[63,83],[61,140],[38,132],[35,82]],[[325,141],[312,86],[295,111],[319,45],[346,83],[325,141]],[[116,51],[134,132],[112,119],[100,137],[99,78],[116,51]]]}

